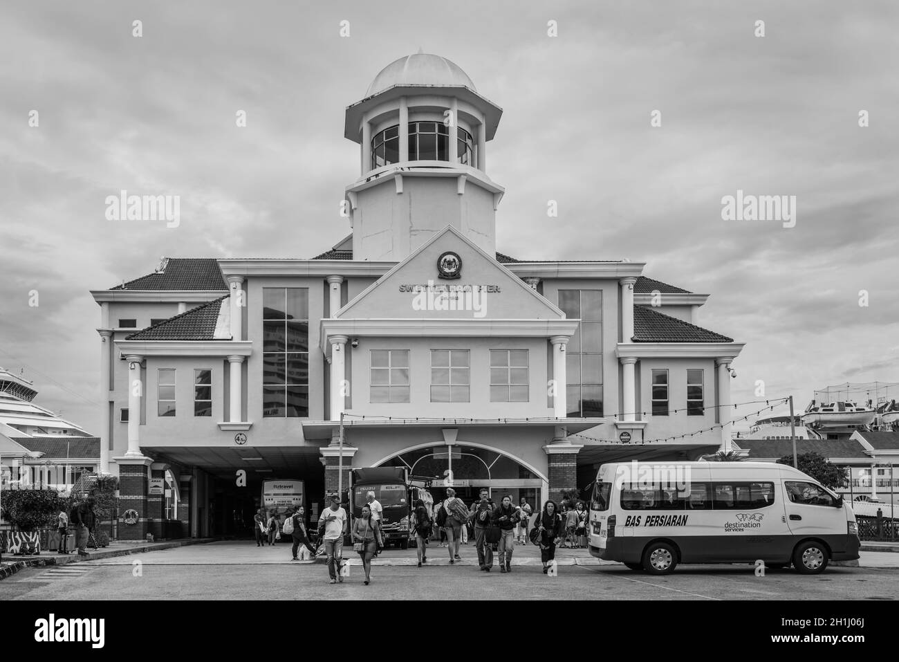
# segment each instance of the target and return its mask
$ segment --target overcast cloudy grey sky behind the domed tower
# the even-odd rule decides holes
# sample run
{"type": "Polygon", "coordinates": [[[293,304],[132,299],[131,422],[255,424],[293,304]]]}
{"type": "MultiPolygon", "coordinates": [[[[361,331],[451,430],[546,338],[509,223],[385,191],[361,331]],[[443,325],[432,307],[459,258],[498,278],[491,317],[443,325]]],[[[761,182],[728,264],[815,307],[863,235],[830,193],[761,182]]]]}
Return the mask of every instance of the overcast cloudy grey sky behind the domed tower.
{"type": "Polygon", "coordinates": [[[700,324],[747,343],[736,402],[756,399],[756,380],[800,410],[828,384],[899,380],[897,19],[895,2],[843,0],[5,0],[0,365],[99,433],[88,291],[162,255],[334,245],[359,164],[343,109],[422,47],[503,107],[487,152],[506,189],[498,250],[628,257],[711,294],[700,324]],[[181,225],[105,219],[122,189],[180,195],[181,225]],[[796,226],[723,220],[738,189],[797,196],[796,226]]]}

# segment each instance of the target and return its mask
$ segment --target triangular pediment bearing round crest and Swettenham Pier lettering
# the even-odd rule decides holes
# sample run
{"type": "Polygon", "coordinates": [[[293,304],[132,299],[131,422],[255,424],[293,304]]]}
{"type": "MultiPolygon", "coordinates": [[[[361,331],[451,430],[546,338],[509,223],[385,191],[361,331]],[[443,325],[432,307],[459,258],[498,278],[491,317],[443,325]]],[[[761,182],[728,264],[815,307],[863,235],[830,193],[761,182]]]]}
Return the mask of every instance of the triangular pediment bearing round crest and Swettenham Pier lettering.
{"type": "Polygon", "coordinates": [[[565,314],[454,228],[444,228],[341,309],[337,318],[563,319],[565,314]],[[441,274],[449,254],[458,278],[441,274]]]}

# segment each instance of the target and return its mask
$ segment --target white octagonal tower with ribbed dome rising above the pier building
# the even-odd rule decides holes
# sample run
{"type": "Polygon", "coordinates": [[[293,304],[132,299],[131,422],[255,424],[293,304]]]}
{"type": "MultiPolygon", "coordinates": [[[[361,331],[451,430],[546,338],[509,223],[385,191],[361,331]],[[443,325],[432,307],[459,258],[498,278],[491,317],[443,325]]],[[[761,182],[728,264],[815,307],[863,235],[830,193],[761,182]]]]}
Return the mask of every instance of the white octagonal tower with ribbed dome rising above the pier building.
{"type": "Polygon", "coordinates": [[[439,55],[381,69],[346,108],[344,136],[360,145],[360,177],[346,187],[353,258],[398,262],[448,225],[493,255],[503,187],[485,146],[502,114],[439,55]]]}

